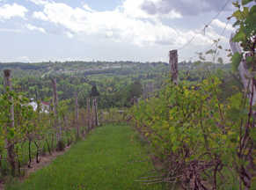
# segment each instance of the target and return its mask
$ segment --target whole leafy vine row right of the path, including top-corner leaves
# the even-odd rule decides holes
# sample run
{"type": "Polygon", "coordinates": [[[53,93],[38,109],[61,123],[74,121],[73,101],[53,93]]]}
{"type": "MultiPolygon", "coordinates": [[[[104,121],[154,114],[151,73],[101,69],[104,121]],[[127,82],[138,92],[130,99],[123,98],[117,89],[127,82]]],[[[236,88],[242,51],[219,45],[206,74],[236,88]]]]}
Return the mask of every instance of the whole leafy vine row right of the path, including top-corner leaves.
{"type": "MultiPolygon", "coordinates": [[[[242,4],[250,2],[244,0],[242,4]]],[[[237,18],[235,26],[239,28],[233,41],[251,53],[246,61],[252,77],[246,78],[255,86],[256,5],[243,11],[238,2],[234,5],[238,11],[232,17],[237,18]]],[[[211,49],[206,54],[217,52],[211,49]]],[[[242,54],[232,56],[233,69],[242,58],[242,54]]],[[[145,182],[168,182],[183,189],[255,188],[255,91],[250,87],[245,94],[238,92],[221,102],[223,84],[216,77],[219,71],[215,75],[208,72],[210,75],[196,85],[183,81],[175,86],[169,81],[158,98],[133,107],[134,126],[161,163],[157,167],[161,174],[148,176],[145,182]]]]}

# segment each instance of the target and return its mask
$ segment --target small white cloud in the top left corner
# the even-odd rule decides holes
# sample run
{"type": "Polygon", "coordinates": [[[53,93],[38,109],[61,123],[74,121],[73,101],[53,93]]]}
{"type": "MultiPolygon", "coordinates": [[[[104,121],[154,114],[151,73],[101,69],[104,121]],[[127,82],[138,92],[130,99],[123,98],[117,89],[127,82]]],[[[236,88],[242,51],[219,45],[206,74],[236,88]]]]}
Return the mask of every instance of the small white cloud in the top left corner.
{"type": "Polygon", "coordinates": [[[0,6],[0,20],[11,19],[11,18],[25,18],[26,12],[28,10],[21,5],[18,4],[4,4],[0,6]]]}

